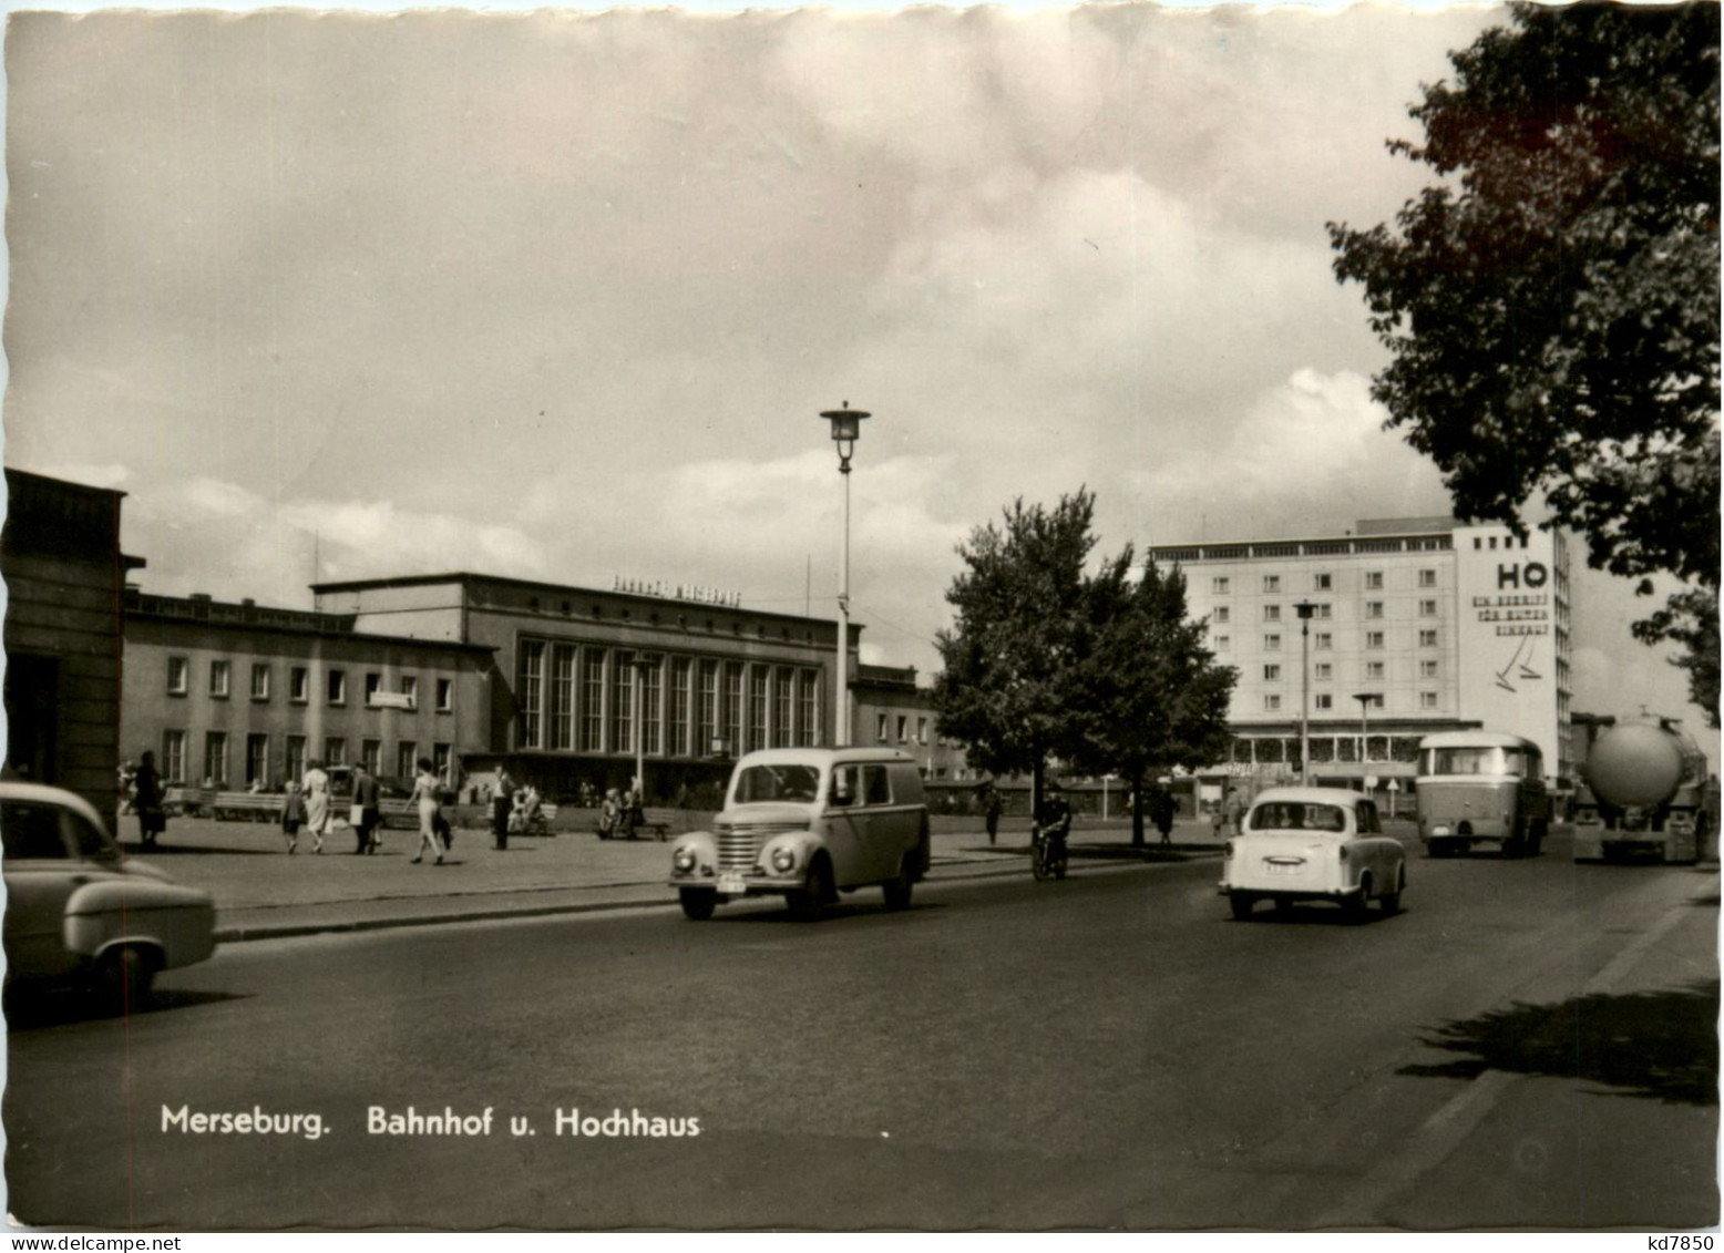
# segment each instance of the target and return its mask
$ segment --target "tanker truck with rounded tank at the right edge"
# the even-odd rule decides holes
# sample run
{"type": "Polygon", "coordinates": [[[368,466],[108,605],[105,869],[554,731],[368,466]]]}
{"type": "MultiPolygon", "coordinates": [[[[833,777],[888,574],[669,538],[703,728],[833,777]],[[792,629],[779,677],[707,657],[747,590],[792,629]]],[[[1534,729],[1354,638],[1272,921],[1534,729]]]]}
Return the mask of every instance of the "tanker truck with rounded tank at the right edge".
{"type": "Polygon", "coordinates": [[[1717,815],[1717,779],[1676,719],[1624,720],[1586,753],[1574,791],[1574,860],[1695,862],[1717,815]]]}

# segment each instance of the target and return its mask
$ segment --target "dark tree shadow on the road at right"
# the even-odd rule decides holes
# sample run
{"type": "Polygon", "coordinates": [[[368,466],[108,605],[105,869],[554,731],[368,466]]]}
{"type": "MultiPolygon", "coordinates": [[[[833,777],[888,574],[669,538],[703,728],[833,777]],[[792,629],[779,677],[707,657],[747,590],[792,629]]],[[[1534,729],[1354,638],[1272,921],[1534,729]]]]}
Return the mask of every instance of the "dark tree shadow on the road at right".
{"type": "Polygon", "coordinates": [[[1403,1075],[1476,1079],[1484,1070],[1584,1079],[1667,1103],[1719,1103],[1719,981],[1655,993],[1593,993],[1452,1022],[1424,1039],[1471,1053],[1403,1075]]]}

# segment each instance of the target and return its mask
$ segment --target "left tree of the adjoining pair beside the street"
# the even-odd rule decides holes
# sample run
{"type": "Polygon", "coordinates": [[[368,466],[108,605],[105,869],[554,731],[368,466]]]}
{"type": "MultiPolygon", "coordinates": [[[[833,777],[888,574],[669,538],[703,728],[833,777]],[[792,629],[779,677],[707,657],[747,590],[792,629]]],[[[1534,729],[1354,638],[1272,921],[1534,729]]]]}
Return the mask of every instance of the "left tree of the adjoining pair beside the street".
{"type": "Polygon", "coordinates": [[[969,745],[984,770],[1028,770],[1038,810],[1046,760],[1071,753],[1083,720],[1074,698],[1096,636],[1084,574],[1093,515],[1095,493],[1079,488],[1052,512],[1019,498],[1003,526],[976,527],[959,545],[967,569],[946,589],[957,619],[934,636],[941,734],[969,745]]]}

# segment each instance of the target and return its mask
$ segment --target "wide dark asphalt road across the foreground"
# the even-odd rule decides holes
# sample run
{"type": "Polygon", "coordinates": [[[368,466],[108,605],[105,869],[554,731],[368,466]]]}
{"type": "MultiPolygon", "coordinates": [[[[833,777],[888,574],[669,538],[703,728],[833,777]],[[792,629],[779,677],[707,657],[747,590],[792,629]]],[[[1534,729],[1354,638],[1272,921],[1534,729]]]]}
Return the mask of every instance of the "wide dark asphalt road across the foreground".
{"type": "Polygon", "coordinates": [[[760,903],[224,948],[131,1020],[14,1019],[9,1208],[171,1231],[1717,1222],[1715,876],[1572,867],[1560,838],[1415,853],[1405,912],[1350,926],[1234,922],[1215,872],[1078,862],[924,884],[905,913],[859,893],[814,926],[760,903]],[[328,1131],[164,1131],[164,1107],[328,1131]],[[491,1129],[371,1134],[372,1107],[491,1129]],[[559,1134],[574,1110],[698,1136],[559,1134]]]}

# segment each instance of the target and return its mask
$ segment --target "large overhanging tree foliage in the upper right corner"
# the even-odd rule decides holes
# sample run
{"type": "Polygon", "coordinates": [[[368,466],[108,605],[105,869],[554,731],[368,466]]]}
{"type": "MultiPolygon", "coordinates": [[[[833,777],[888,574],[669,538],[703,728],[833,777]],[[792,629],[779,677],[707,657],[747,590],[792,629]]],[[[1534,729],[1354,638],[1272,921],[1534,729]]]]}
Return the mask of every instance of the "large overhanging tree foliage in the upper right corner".
{"type": "Polygon", "coordinates": [[[1329,224],[1372,395],[1464,517],[1543,493],[1591,565],[1688,583],[1636,634],[1717,726],[1719,9],[1517,3],[1450,60],[1390,143],[1438,179],[1395,231],[1329,224]]]}

